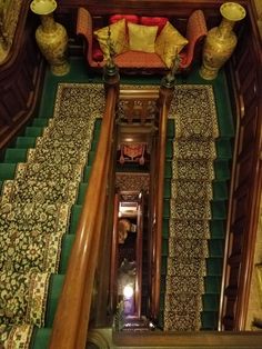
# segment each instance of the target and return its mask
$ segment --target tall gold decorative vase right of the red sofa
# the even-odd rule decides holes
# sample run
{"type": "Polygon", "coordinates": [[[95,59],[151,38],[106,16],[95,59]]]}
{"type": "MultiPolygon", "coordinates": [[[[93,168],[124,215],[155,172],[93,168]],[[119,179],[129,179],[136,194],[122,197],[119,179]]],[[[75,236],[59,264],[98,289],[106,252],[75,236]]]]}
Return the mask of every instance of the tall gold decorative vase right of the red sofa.
{"type": "Polygon", "coordinates": [[[233,53],[238,42],[233,27],[245,17],[245,9],[236,2],[225,2],[220,7],[220,13],[223,19],[219,27],[208,32],[203,47],[200,76],[205,80],[215,79],[220,68],[233,53]]]}

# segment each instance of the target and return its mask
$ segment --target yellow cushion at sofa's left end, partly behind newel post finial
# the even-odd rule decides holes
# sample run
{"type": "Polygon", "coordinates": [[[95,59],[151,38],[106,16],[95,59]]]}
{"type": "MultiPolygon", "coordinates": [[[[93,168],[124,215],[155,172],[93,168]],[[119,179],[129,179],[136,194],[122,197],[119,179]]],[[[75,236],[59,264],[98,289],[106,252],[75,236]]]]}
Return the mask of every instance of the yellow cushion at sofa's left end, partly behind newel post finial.
{"type": "Polygon", "coordinates": [[[110,41],[112,44],[113,53],[119,54],[128,50],[128,40],[125,36],[125,19],[95,30],[94,37],[98,39],[101,50],[105,59],[109,58],[109,28],[110,28],[110,41]]]}

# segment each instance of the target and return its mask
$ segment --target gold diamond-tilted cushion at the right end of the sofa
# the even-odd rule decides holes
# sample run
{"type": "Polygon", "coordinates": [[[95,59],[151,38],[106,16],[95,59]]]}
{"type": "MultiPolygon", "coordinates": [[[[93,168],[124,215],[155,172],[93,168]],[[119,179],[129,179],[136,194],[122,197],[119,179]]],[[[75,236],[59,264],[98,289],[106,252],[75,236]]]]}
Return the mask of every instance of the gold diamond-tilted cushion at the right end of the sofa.
{"type": "Polygon", "coordinates": [[[168,22],[155,40],[154,50],[168,68],[172,67],[175,56],[189,42],[181,33],[168,22]]]}

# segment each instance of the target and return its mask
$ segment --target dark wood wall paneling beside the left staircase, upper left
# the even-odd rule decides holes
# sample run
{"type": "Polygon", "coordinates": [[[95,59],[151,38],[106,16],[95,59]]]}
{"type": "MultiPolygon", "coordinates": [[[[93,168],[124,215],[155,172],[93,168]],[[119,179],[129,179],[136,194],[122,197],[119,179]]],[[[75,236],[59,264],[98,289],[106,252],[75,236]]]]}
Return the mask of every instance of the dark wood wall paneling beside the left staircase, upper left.
{"type": "Polygon", "coordinates": [[[37,104],[43,63],[34,30],[36,20],[26,3],[12,49],[0,66],[0,149],[7,147],[28,122],[37,104]]]}

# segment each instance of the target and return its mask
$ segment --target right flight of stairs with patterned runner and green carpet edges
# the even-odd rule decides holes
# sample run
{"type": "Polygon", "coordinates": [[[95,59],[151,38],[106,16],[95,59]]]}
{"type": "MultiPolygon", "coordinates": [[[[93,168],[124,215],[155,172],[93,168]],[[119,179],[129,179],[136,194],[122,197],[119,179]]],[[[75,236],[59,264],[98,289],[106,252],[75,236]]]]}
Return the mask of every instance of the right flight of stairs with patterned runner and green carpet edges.
{"type": "MultiPolygon", "coordinates": [[[[218,328],[233,136],[231,114],[216,120],[218,109],[211,86],[177,86],[172,154],[167,143],[159,318],[164,330],[218,328]]],[[[171,120],[169,129],[172,137],[171,120]]]]}

